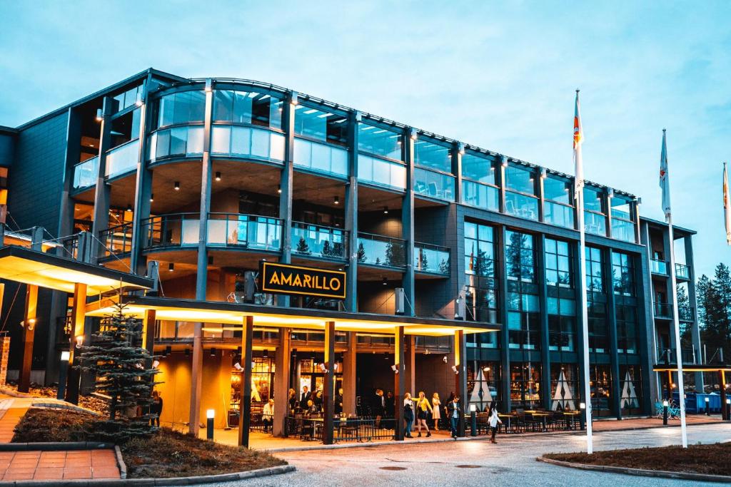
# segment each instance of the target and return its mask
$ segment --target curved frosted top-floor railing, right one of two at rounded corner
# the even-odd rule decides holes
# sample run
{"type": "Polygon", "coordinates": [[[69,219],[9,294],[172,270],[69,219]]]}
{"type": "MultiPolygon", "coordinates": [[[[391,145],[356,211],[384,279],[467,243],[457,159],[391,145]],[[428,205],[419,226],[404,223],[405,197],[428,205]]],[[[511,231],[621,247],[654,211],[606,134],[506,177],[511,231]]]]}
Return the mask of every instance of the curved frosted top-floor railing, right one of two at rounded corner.
{"type": "Polygon", "coordinates": [[[213,126],[211,153],[284,161],[284,135],[240,126],[213,126]]]}

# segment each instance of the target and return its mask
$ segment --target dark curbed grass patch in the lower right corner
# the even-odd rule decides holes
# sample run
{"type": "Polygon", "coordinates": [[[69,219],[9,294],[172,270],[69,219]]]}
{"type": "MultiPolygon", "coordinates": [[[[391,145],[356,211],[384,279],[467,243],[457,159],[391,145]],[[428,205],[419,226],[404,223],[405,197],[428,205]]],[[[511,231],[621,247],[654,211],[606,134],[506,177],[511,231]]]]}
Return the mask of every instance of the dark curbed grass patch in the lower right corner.
{"type": "Polygon", "coordinates": [[[586,453],[546,453],[546,459],[569,461],[576,464],[628,467],[667,472],[731,475],[731,443],[688,445],[661,448],[632,448],[628,450],[586,453]]]}

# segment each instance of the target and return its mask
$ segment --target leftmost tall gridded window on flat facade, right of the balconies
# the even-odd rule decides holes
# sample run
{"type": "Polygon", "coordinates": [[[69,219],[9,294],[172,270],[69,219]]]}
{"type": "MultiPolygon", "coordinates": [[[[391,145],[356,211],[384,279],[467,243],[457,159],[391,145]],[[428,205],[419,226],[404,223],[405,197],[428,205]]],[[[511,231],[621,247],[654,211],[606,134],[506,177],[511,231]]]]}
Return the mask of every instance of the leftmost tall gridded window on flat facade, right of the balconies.
{"type": "MultiPolygon", "coordinates": [[[[469,321],[497,321],[495,237],[491,226],[464,222],[467,315],[469,321]]],[[[482,346],[497,346],[496,333],[483,334],[482,346]]]]}

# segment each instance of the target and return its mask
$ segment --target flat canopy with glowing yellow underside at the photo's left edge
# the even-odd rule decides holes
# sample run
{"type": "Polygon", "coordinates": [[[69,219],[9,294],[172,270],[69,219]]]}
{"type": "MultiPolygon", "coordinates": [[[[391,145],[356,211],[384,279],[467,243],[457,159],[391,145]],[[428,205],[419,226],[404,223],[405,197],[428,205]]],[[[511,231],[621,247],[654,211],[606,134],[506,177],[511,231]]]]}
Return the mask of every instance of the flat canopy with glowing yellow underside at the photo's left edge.
{"type": "Polygon", "coordinates": [[[8,245],[0,248],[0,279],[74,292],[74,285],[86,284],[86,294],[96,296],[119,288],[149,289],[147,277],[86,264],[39,250],[8,245]]]}

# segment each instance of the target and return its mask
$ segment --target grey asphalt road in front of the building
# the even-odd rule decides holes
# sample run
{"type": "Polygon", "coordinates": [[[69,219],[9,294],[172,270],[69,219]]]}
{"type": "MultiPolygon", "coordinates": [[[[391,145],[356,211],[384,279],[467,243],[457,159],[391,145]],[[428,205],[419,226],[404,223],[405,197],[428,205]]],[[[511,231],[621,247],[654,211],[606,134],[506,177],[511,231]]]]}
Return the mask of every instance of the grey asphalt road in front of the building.
{"type": "MultiPolygon", "coordinates": [[[[689,428],[689,443],[731,441],[731,424],[689,428]]],[[[643,429],[594,435],[595,450],[639,448],[680,443],[680,429],[643,429]]],[[[225,486],[718,486],[687,480],[636,477],[556,467],[536,461],[548,452],[579,451],[586,437],[561,434],[379,448],[343,448],[276,453],[297,472],[225,486]],[[467,466],[467,467],[465,467],[467,466]],[[385,469],[386,468],[386,469],[385,469]],[[395,468],[395,469],[394,469],[395,468]]]]}

